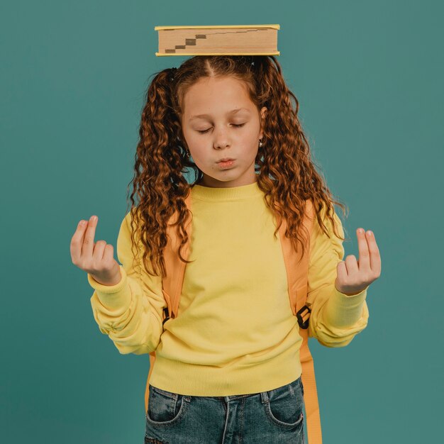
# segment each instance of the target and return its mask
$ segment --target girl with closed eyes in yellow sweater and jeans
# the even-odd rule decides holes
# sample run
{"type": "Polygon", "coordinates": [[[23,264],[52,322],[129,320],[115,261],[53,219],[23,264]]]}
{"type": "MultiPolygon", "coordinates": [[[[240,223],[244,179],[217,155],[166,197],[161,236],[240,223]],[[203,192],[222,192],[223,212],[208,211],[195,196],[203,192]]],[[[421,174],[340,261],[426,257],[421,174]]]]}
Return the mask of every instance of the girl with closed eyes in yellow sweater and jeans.
{"type": "Polygon", "coordinates": [[[316,211],[309,336],[343,347],[367,326],[367,288],[381,270],[377,243],[358,228],[360,258],[342,260],[333,203],[345,206],[316,172],[298,109],[274,56],[196,56],[158,72],[140,123],[131,211],[118,233],[123,265],[111,244],[94,243],[96,216],[72,237],[72,262],[88,273],[101,333],[122,354],[155,350],[145,443],[306,442],[301,336],[275,213],[294,248],[304,249],[304,201],[316,211]],[[179,316],[162,324],[167,223],[177,213],[184,245],[189,192],[179,316]]]}

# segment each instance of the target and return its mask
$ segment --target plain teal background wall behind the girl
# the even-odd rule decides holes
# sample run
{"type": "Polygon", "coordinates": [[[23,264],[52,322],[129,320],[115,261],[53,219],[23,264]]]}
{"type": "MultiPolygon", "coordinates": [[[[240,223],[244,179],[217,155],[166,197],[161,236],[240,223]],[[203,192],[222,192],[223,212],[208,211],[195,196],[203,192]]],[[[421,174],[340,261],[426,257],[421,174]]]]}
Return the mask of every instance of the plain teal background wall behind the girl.
{"type": "MultiPolygon", "coordinates": [[[[3,443],[142,443],[148,355],[120,355],[71,262],[77,222],[116,245],[165,25],[279,23],[313,157],[375,233],[382,274],[346,348],[311,340],[326,444],[442,437],[443,26],[438,1],[3,1],[3,443]],[[441,203],[439,203],[441,202],[441,203]],[[440,376],[441,375],[441,376],[440,376]]],[[[342,218],[342,213],[340,213],[342,218]]],[[[442,438],[441,438],[442,439],[442,438]]]]}

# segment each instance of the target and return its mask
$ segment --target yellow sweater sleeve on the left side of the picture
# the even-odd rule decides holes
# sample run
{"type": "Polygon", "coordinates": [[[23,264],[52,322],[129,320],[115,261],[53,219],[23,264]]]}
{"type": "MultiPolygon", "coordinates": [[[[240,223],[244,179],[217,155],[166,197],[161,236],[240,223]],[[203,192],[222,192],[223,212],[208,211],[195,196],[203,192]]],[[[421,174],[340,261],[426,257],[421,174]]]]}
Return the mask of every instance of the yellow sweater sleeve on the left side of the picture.
{"type": "Polygon", "coordinates": [[[117,257],[122,264],[120,282],[103,285],[89,273],[87,279],[94,289],[91,307],[101,333],[109,335],[121,354],[142,355],[154,351],[160,342],[162,310],[167,304],[162,278],[145,272],[139,245],[133,267],[130,221],[128,212],[117,239],[117,257]]]}

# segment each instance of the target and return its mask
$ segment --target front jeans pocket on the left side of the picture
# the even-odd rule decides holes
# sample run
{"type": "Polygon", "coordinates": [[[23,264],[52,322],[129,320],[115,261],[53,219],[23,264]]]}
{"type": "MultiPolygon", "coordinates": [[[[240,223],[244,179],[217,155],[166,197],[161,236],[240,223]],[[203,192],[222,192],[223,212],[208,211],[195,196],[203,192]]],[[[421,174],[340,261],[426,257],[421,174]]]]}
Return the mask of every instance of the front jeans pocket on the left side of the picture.
{"type": "Polygon", "coordinates": [[[187,403],[184,403],[184,395],[167,392],[150,385],[148,399],[148,412],[146,420],[153,425],[168,426],[179,418],[182,418],[187,403]]]}

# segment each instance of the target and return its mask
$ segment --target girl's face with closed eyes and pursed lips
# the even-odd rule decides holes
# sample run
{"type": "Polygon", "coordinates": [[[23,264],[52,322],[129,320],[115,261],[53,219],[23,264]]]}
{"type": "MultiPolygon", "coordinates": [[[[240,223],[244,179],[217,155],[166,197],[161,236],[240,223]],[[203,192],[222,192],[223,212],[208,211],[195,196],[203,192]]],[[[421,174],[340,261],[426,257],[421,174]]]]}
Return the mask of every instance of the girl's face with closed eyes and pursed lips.
{"type": "Polygon", "coordinates": [[[184,95],[183,111],[185,142],[204,174],[199,185],[226,188],[256,182],[255,157],[267,108],[257,110],[242,82],[200,79],[184,95]],[[218,163],[225,157],[233,161],[218,163]]]}

